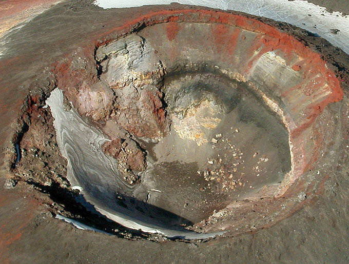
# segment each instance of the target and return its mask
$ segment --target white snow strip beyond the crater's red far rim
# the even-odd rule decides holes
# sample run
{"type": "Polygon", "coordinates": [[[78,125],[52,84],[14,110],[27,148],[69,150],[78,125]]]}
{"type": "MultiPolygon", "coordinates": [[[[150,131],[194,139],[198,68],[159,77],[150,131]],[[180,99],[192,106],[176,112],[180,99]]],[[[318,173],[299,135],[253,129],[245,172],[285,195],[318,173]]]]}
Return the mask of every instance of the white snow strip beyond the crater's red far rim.
{"type": "MultiPolygon", "coordinates": [[[[174,0],[96,0],[95,5],[108,8],[136,7],[143,5],[168,5],[174,0]]],[[[349,16],[340,12],[329,13],[324,7],[303,0],[177,0],[179,4],[206,6],[223,10],[235,10],[287,22],[327,39],[332,45],[349,54],[349,16]],[[311,15],[311,16],[309,16],[311,15]],[[331,29],[339,29],[337,34],[331,29]]]]}

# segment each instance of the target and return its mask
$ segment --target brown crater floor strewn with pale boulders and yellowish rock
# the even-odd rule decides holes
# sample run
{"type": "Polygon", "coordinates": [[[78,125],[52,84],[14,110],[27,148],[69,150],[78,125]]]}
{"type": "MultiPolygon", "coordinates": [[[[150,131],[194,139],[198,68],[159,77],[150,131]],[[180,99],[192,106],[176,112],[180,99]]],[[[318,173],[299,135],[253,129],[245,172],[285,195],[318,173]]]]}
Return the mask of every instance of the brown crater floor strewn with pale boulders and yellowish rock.
{"type": "Polygon", "coordinates": [[[209,72],[165,77],[169,133],[140,141],[152,158],[152,205],[200,222],[278,185],[290,171],[288,133],[245,84],[209,72]]]}

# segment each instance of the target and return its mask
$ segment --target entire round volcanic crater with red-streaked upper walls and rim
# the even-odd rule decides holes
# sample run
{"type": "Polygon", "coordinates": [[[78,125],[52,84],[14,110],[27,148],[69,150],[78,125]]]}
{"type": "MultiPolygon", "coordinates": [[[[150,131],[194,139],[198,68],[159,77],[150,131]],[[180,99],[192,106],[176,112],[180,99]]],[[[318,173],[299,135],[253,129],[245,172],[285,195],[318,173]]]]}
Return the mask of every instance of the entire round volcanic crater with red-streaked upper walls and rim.
{"type": "Polygon", "coordinates": [[[52,160],[36,170],[60,159],[60,186],[92,213],[204,239],[270,226],[321,189],[343,91],[293,36],[243,14],[183,9],[146,14],[92,46],[54,63],[48,98],[27,109],[46,119],[18,136],[37,157],[30,140],[50,131],[52,160]]]}

